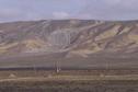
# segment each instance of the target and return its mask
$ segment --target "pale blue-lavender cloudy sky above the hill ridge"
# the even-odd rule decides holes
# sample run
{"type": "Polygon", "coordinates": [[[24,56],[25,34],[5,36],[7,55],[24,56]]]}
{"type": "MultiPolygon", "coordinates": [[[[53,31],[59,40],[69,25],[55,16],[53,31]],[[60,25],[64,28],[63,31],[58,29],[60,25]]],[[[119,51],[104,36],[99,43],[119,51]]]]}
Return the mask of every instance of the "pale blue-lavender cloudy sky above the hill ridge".
{"type": "Polygon", "coordinates": [[[138,20],[138,0],[0,0],[0,22],[138,20]]]}

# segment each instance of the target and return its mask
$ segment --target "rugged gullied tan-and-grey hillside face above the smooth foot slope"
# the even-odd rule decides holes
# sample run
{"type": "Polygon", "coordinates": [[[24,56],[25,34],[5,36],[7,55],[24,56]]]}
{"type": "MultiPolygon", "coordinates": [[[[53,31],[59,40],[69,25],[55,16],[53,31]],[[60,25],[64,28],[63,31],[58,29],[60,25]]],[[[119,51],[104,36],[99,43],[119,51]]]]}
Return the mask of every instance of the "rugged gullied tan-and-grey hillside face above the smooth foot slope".
{"type": "Polygon", "coordinates": [[[0,24],[0,55],[62,51],[66,57],[137,54],[138,22],[55,20],[0,24]]]}

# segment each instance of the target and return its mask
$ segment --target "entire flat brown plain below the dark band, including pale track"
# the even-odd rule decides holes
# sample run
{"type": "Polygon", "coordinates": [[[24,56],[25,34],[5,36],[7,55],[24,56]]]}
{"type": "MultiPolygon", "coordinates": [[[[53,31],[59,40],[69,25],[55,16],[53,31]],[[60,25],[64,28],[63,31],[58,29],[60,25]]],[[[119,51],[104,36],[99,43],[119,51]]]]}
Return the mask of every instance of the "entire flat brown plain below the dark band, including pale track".
{"type": "Polygon", "coordinates": [[[59,73],[54,70],[5,70],[0,71],[0,92],[138,92],[136,70],[131,70],[131,74],[120,74],[123,71],[128,73],[128,70],[59,73]]]}

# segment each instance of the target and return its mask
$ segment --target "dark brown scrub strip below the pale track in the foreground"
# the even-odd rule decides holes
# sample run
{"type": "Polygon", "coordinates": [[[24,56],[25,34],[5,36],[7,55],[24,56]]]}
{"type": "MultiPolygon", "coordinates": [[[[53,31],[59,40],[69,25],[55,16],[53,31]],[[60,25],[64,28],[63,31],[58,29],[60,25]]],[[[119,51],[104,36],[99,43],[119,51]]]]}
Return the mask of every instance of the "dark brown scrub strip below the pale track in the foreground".
{"type": "Polygon", "coordinates": [[[135,83],[136,81],[13,81],[0,83],[0,92],[137,92],[138,85],[135,83]]]}

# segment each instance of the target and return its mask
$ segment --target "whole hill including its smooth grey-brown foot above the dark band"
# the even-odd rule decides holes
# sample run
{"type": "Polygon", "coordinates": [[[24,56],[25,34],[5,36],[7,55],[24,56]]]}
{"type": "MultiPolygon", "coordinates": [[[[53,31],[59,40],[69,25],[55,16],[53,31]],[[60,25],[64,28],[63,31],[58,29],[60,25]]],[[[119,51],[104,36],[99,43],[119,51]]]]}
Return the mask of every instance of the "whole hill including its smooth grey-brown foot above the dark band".
{"type": "Polygon", "coordinates": [[[100,67],[105,67],[104,57],[110,57],[107,60],[113,61],[112,67],[116,67],[118,61],[119,67],[131,65],[134,68],[137,67],[137,55],[138,21],[42,20],[0,23],[2,67],[28,66],[32,62],[54,66],[57,58],[62,66],[87,64],[85,67],[92,67],[97,62],[100,67]]]}

